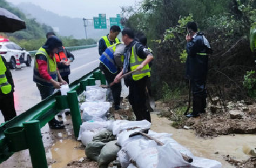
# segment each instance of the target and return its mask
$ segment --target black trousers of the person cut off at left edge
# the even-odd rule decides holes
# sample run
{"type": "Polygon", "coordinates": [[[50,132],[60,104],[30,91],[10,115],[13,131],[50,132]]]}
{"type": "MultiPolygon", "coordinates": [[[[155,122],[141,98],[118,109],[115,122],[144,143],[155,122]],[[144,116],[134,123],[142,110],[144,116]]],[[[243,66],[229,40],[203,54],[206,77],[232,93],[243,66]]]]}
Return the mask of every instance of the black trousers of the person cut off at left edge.
{"type": "Polygon", "coordinates": [[[4,116],[4,121],[8,121],[17,116],[14,107],[13,92],[10,92],[6,95],[0,95],[0,111],[4,116]]]}

